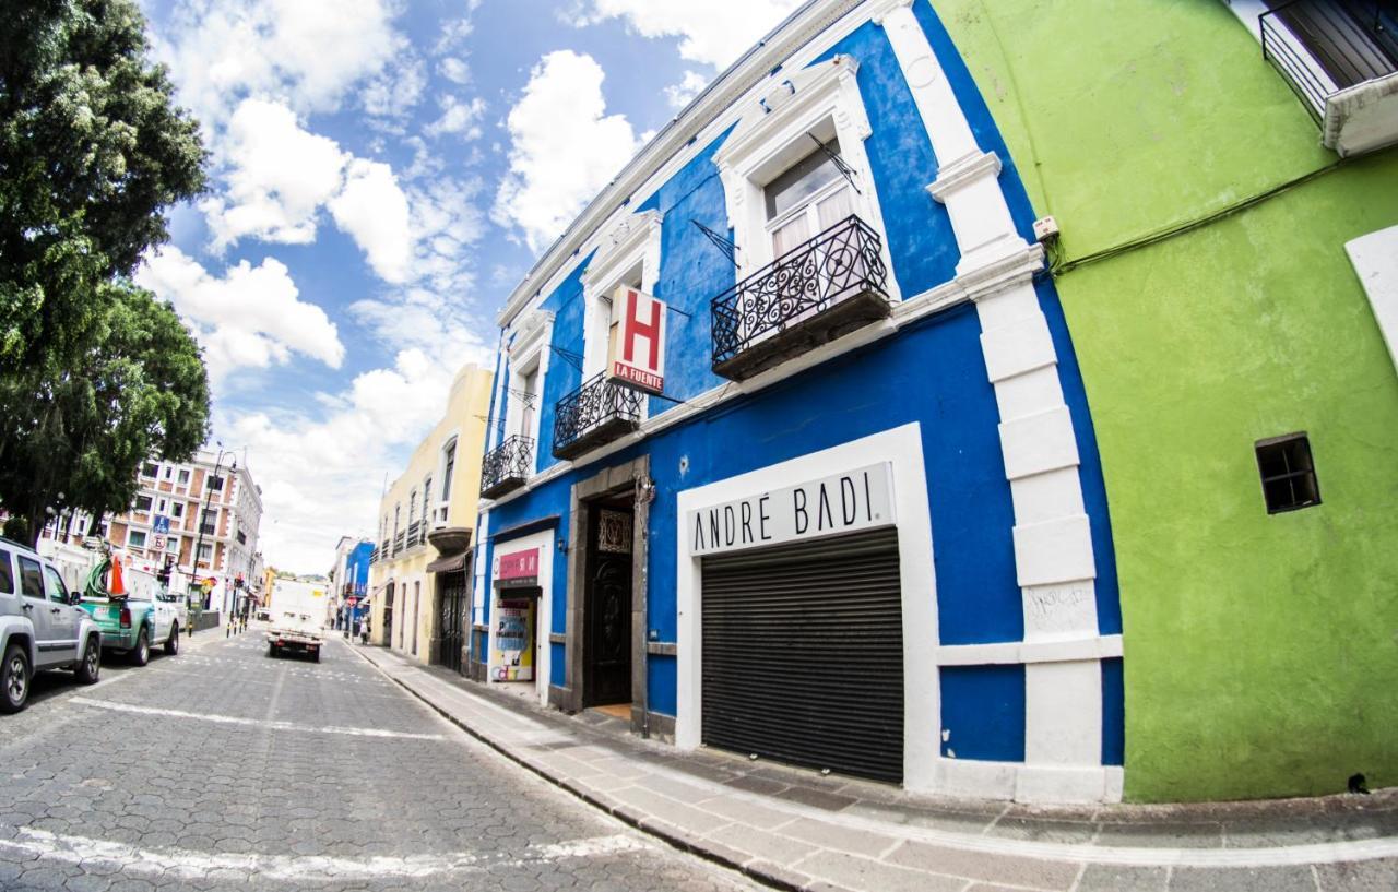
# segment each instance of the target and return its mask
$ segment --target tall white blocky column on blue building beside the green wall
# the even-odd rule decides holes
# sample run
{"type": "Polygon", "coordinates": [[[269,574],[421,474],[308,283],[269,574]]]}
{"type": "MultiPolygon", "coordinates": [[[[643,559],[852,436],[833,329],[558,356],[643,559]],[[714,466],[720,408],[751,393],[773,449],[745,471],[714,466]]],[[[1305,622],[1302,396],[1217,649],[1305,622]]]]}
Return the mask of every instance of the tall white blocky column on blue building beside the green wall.
{"type": "MultiPolygon", "coordinates": [[[[1029,245],[1015,231],[1001,192],[1000,159],[976,144],[911,1],[888,0],[875,21],[888,34],[938,159],[928,192],[951,217],[962,253],[958,280],[1000,282],[969,291],[1000,407],[1025,643],[1096,639],[1096,569],[1078,446],[1048,323],[1023,263],[1029,245]]],[[[1100,672],[1096,659],[1026,661],[1025,765],[1016,770],[1015,798],[1110,798],[1102,769],[1100,672]]]]}

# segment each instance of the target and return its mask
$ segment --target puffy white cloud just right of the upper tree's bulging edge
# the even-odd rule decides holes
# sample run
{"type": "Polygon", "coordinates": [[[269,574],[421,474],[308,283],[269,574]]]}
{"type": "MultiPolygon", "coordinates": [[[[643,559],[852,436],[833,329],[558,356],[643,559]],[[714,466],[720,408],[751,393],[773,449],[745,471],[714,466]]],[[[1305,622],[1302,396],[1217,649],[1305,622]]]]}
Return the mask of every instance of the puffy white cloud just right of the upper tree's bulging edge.
{"type": "Polygon", "coordinates": [[[303,130],[281,102],[245,99],[222,143],[226,189],[200,203],[221,250],[243,236],[305,245],[316,213],[340,190],[347,155],[303,130]]]}

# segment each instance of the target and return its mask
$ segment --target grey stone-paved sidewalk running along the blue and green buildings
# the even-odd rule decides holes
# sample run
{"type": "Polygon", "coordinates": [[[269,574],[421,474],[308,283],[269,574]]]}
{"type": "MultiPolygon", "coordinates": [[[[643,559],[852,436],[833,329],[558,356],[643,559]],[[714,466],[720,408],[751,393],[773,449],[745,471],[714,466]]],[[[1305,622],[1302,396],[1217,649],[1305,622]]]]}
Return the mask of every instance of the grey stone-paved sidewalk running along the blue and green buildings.
{"type": "Polygon", "coordinates": [[[354,650],[507,758],[779,889],[1398,889],[1398,790],[1215,805],[1026,807],[679,752],[382,647],[354,650]]]}

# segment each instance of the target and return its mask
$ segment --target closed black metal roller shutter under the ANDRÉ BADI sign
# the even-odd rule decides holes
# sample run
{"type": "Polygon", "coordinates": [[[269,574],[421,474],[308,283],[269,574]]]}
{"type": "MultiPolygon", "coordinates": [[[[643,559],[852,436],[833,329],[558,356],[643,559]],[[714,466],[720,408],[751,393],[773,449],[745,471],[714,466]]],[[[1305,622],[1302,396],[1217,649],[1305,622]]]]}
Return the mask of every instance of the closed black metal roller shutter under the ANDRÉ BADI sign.
{"type": "Polygon", "coordinates": [[[703,742],[903,780],[896,528],[703,559],[703,742]]]}

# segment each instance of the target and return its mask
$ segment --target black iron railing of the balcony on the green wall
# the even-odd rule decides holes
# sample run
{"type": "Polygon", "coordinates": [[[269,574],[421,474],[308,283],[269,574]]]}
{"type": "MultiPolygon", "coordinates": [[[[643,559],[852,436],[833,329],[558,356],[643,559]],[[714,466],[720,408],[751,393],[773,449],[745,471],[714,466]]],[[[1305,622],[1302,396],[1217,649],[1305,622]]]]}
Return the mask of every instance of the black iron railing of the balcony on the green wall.
{"type": "Polygon", "coordinates": [[[1257,18],[1271,62],[1316,122],[1335,94],[1398,71],[1398,11],[1381,0],[1292,0],[1257,18]]]}

